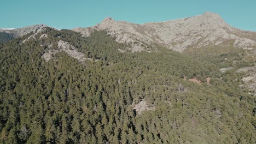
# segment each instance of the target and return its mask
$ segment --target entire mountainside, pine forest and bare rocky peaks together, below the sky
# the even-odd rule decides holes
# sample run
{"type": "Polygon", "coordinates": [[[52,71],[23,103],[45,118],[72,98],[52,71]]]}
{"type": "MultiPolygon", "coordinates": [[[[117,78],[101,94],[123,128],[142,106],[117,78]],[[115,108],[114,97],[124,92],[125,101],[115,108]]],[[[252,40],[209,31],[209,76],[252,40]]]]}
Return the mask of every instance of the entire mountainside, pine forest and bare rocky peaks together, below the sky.
{"type": "Polygon", "coordinates": [[[256,142],[255,33],[217,14],[1,33],[0,143],[256,142]]]}

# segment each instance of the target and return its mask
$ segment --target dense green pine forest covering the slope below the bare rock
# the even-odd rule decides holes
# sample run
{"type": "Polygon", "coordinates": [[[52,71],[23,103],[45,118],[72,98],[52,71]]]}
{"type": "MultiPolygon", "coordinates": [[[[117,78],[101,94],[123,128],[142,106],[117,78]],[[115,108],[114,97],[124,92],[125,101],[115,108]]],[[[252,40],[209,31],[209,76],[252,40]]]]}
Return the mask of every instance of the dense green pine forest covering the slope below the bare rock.
{"type": "Polygon", "coordinates": [[[23,43],[30,35],[0,44],[0,143],[256,142],[256,99],[242,73],[219,72],[228,63],[160,46],[122,52],[106,31],[46,28],[23,43]],[[45,61],[60,40],[92,61],[45,61]],[[141,101],[153,108],[138,113],[141,101]]]}

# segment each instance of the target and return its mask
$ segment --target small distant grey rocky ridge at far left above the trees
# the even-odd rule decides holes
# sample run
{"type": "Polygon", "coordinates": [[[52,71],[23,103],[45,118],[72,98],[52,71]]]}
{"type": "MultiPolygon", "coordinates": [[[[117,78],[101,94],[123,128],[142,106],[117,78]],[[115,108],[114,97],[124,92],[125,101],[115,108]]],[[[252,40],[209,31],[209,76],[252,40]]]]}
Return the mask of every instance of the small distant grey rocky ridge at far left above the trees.
{"type": "Polygon", "coordinates": [[[28,34],[28,33],[39,33],[44,31],[44,29],[48,27],[46,25],[43,24],[39,24],[39,25],[34,25],[34,26],[28,26],[28,27],[22,27],[22,28],[15,28],[15,29],[1,29],[0,28],[0,32],[6,32],[6,33],[10,33],[13,34],[14,37],[20,37],[22,35],[28,34]]]}

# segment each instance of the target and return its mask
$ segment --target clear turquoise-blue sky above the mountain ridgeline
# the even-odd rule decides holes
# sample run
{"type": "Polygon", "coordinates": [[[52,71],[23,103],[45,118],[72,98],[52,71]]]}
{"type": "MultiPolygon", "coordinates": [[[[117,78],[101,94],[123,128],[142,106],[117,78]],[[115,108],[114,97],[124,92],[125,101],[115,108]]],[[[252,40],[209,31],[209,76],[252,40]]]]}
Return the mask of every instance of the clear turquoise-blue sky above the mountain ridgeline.
{"type": "Polygon", "coordinates": [[[38,23],[50,27],[88,27],[105,17],[144,23],[218,13],[229,25],[256,31],[256,0],[1,0],[0,28],[38,23]]]}

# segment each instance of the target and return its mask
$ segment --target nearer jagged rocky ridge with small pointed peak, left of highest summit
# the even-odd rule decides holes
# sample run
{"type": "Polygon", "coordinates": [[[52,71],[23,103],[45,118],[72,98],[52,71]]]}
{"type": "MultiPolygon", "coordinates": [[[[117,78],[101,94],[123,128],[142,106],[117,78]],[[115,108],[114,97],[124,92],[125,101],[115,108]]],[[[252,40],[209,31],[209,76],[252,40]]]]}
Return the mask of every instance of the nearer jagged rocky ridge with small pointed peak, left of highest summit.
{"type": "Polygon", "coordinates": [[[155,40],[155,38],[152,36],[152,31],[154,29],[135,23],[114,21],[110,17],[104,19],[99,25],[95,27],[74,28],[73,31],[81,33],[84,37],[88,37],[90,33],[94,31],[94,29],[107,29],[110,35],[117,37],[116,41],[120,43],[129,43],[131,46],[127,47],[127,49],[131,50],[132,52],[147,50],[148,44],[152,44],[152,42],[155,40]],[[147,31],[150,33],[143,34],[142,31],[147,31]]]}

